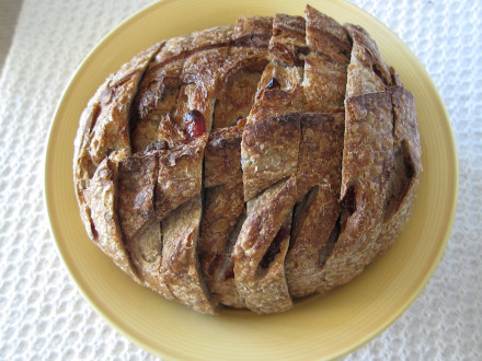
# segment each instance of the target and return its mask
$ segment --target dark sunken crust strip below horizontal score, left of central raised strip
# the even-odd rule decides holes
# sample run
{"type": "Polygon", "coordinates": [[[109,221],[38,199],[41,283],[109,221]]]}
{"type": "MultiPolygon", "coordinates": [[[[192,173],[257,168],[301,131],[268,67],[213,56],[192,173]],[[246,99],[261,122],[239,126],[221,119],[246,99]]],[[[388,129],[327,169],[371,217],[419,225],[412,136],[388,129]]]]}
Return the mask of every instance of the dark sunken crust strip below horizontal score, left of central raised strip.
{"type": "Polygon", "coordinates": [[[205,153],[205,207],[199,263],[216,302],[244,307],[234,284],[231,252],[244,213],[241,172],[243,123],[209,137],[205,153]]]}

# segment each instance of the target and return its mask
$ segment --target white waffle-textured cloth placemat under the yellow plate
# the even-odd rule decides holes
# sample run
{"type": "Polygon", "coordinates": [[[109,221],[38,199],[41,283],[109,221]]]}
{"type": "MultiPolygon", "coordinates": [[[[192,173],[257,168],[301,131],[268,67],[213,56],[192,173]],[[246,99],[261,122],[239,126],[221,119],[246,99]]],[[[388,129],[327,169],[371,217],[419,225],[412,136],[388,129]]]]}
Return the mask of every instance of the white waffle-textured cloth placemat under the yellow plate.
{"type": "MultiPolygon", "coordinates": [[[[25,0],[0,79],[0,359],[154,359],[111,328],[61,263],[43,203],[55,107],[80,61],[150,1],[25,0]]],[[[437,85],[460,189],[446,254],[421,296],[347,360],[482,360],[482,10],[477,1],[354,3],[394,31],[437,85]]]]}

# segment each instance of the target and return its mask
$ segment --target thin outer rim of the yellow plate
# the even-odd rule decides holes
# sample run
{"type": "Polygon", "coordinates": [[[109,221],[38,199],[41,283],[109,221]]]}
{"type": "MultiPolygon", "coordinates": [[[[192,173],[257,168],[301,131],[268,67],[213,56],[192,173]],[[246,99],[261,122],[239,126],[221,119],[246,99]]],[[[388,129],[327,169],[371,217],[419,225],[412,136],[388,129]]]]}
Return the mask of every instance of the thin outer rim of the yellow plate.
{"type": "MultiPolygon", "coordinates": [[[[56,213],[56,210],[53,208],[53,202],[50,201],[51,199],[51,195],[55,191],[54,189],[50,188],[50,168],[53,167],[51,164],[51,152],[54,151],[53,148],[53,142],[51,142],[51,138],[55,135],[55,130],[58,127],[59,123],[60,123],[60,118],[59,118],[59,114],[61,113],[61,108],[65,106],[66,103],[66,97],[67,95],[71,92],[72,86],[74,85],[74,82],[78,78],[80,78],[81,74],[81,70],[83,68],[87,67],[87,65],[90,61],[94,61],[94,56],[95,54],[113,37],[115,36],[116,33],[120,32],[120,31],[125,31],[126,28],[128,28],[133,23],[135,23],[136,21],[139,21],[140,18],[147,15],[147,13],[149,11],[151,11],[154,8],[158,7],[162,7],[167,3],[171,3],[174,2],[176,0],[159,0],[157,2],[150,3],[148,5],[146,5],[145,8],[140,9],[139,11],[133,13],[131,15],[127,16],[125,20],[123,20],[120,23],[118,23],[118,25],[114,25],[113,28],[106,33],[106,35],[104,35],[102,37],[102,39],[96,43],[96,45],[88,53],[88,55],[83,58],[83,60],[80,62],[80,65],[76,68],[76,70],[73,71],[72,75],[70,77],[70,79],[67,82],[67,85],[65,86],[64,91],[61,92],[61,96],[57,103],[56,106],[56,110],[54,113],[53,116],[53,120],[50,121],[50,126],[48,129],[48,138],[47,138],[47,145],[45,147],[45,151],[43,154],[43,168],[44,168],[44,207],[46,209],[46,212],[48,214],[48,223],[49,223],[49,231],[54,236],[55,243],[56,243],[56,249],[58,252],[58,255],[60,256],[64,265],[67,268],[67,271],[71,278],[71,280],[73,280],[73,282],[77,286],[77,289],[81,292],[81,294],[83,295],[83,298],[88,301],[88,303],[90,304],[91,307],[93,307],[95,310],[95,312],[102,316],[102,318],[111,326],[113,327],[116,331],[120,333],[123,336],[125,336],[127,339],[129,339],[130,341],[133,341],[135,345],[141,347],[142,349],[147,350],[148,352],[152,353],[152,354],[157,354],[157,356],[161,356],[165,359],[175,359],[179,358],[179,356],[175,356],[174,353],[168,353],[165,350],[159,350],[156,349],[153,347],[151,347],[149,345],[149,342],[146,342],[141,335],[137,335],[134,330],[133,331],[128,331],[127,329],[123,328],[122,326],[119,326],[118,324],[118,317],[114,318],[113,316],[108,315],[108,313],[105,312],[105,310],[103,310],[102,307],[99,306],[97,302],[95,299],[95,294],[90,294],[87,290],[87,288],[83,286],[84,280],[79,276],[76,275],[72,270],[72,266],[69,264],[69,255],[68,252],[65,249],[65,245],[59,242],[59,240],[62,237],[60,235],[60,231],[58,230],[58,225],[53,221],[54,219],[54,214],[56,213]]],[[[378,19],[376,19],[374,15],[371,15],[370,13],[366,12],[365,10],[360,9],[359,7],[357,7],[354,3],[349,3],[345,0],[334,0],[335,2],[340,2],[340,3],[344,3],[346,7],[348,8],[353,8],[353,9],[357,9],[358,11],[364,12],[365,14],[367,14],[369,18],[371,18],[371,21],[377,22],[379,25],[381,25],[382,27],[385,27],[385,31],[390,32],[394,37],[397,37],[398,39],[400,39],[400,37],[393,32],[391,31],[387,25],[385,25],[383,23],[381,23],[378,19]]],[[[337,353],[333,353],[331,356],[329,356],[329,358],[340,358],[343,356],[346,356],[348,353],[351,353],[352,351],[358,349],[359,347],[368,343],[369,341],[371,341],[374,338],[376,338],[377,336],[379,336],[381,333],[383,333],[386,329],[388,329],[397,319],[399,319],[401,317],[401,315],[403,315],[406,310],[413,304],[413,302],[420,296],[420,294],[422,293],[422,291],[425,289],[425,287],[427,286],[428,281],[431,280],[431,278],[433,277],[435,270],[437,269],[444,253],[447,248],[447,244],[448,241],[450,238],[450,234],[452,232],[452,226],[455,223],[455,219],[456,219],[456,213],[457,213],[457,205],[458,205],[458,191],[459,191],[459,162],[458,162],[458,154],[457,154],[457,147],[456,147],[456,139],[455,139],[455,135],[451,128],[451,123],[450,123],[450,118],[449,118],[449,114],[447,112],[447,108],[444,105],[443,102],[443,97],[440,96],[438,89],[436,88],[434,81],[432,80],[432,78],[429,77],[427,70],[425,69],[425,67],[423,66],[423,63],[420,61],[420,59],[413,54],[413,51],[410,49],[410,47],[400,39],[400,43],[403,44],[404,47],[404,51],[409,53],[410,55],[412,55],[413,59],[417,62],[417,67],[423,71],[424,77],[425,77],[425,81],[428,83],[431,90],[434,92],[434,97],[436,103],[438,103],[438,108],[439,110],[443,112],[444,114],[444,121],[446,123],[447,129],[448,129],[448,142],[449,142],[449,148],[451,150],[451,154],[454,155],[454,162],[452,162],[452,166],[454,166],[454,197],[451,199],[451,208],[450,208],[450,213],[448,214],[448,222],[445,225],[445,230],[443,233],[443,237],[441,237],[441,242],[440,242],[440,247],[438,248],[435,257],[433,258],[433,261],[431,264],[429,269],[427,270],[427,272],[424,275],[422,281],[417,284],[416,289],[411,293],[411,295],[405,300],[405,302],[403,303],[403,305],[401,307],[399,307],[399,310],[397,310],[397,312],[394,312],[392,314],[392,316],[390,317],[390,319],[388,319],[385,324],[378,326],[378,327],[374,327],[370,335],[368,335],[365,339],[360,339],[358,342],[356,343],[352,343],[347,347],[345,347],[343,350],[340,350],[340,352],[337,353]]],[[[440,120],[440,121],[443,121],[440,120]]],[[[72,183],[73,184],[73,183],[72,183]]],[[[72,188],[72,193],[73,193],[73,188],[72,188]]],[[[105,305],[104,305],[105,308],[105,305]]]]}

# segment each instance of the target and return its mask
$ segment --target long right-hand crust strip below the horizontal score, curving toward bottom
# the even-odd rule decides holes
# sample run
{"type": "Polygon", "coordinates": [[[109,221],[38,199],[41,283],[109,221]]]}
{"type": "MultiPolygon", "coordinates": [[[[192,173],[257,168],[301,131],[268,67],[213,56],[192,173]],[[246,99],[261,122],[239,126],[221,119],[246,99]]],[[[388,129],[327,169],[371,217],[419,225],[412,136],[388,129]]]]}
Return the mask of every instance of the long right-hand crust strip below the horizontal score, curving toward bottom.
{"type": "Polygon", "coordinates": [[[340,236],[323,266],[320,292],[347,282],[372,260],[393,166],[392,124],[389,92],[346,100],[340,236]]]}

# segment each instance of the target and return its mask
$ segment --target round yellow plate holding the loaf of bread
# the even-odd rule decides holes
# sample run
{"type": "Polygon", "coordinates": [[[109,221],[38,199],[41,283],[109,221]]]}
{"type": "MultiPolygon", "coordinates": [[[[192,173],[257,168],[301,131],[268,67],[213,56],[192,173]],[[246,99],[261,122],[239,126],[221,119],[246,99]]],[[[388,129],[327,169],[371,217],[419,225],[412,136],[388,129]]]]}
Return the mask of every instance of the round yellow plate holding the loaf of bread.
{"type": "Polygon", "coordinates": [[[443,102],[410,49],[376,19],[342,1],[310,1],[337,21],[364,26],[417,102],[423,164],[418,198],[394,247],[357,279],[285,314],[226,311],[203,316],[137,286],[85,235],[73,194],[73,138],[88,100],[110,72],[174,35],[233,24],[239,15],[302,14],[294,0],[162,1],[137,13],[89,55],[67,88],[48,141],[45,196],[51,231],[71,277],[105,319],[165,359],[323,359],[345,354],[393,323],[434,272],[452,225],[457,159],[443,102]]]}

